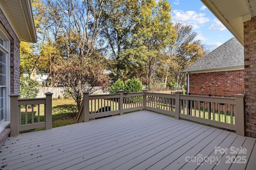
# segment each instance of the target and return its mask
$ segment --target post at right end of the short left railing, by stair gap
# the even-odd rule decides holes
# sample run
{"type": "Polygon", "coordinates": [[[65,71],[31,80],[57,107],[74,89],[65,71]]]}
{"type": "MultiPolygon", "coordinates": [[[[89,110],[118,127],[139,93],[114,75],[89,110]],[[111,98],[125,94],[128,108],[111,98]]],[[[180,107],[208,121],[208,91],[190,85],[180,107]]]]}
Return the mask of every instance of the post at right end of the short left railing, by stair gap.
{"type": "Polygon", "coordinates": [[[52,95],[53,93],[45,93],[45,129],[52,129],[52,95]]]}

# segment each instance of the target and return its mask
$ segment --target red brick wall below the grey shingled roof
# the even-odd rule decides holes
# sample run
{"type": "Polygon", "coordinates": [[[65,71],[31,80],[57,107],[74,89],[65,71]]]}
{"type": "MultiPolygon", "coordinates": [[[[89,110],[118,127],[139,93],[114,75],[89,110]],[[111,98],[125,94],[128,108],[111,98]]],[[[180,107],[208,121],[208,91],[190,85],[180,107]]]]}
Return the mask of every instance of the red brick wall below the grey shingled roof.
{"type": "Polygon", "coordinates": [[[244,94],[244,70],[189,74],[189,92],[212,96],[244,94]]]}

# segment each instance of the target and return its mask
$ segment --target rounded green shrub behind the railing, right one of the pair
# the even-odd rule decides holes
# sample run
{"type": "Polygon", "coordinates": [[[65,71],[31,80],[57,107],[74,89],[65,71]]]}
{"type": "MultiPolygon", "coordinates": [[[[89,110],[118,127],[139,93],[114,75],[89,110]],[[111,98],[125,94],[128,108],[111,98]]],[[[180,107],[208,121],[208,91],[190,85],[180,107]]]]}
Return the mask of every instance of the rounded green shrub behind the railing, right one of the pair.
{"type": "Polygon", "coordinates": [[[138,78],[132,78],[124,85],[124,92],[142,92],[142,82],[138,78]]]}

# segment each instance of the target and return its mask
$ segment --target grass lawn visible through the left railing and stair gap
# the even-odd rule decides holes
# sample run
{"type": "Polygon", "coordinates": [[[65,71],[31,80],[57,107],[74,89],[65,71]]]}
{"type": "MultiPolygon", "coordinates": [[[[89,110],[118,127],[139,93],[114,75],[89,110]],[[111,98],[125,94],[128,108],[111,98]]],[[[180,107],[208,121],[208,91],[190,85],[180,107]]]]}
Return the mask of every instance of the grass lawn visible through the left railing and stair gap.
{"type": "MultiPolygon", "coordinates": [[[[40,115],[38,116],[38,106],[34,106],[34,122],[38,121],[38,118],[40,121],[44,121],[44,105],[39,106],[40,115]]],[[[28,115],[26,118],[25,114],[26,109],[21,109],[21,124],[24,125],[26,122],[26,119],[29,122],[31,122],[32,118],[32,108],[31,106],[28,106],[28,115]]],[[[77,113],[77,107],[76,102],[73,99],[58,99],[58,100],[52,100],[52,127],[60,127],[60,126],[66,126],[76,123],[76,113],[77,113]]],[[[45,128],[39,128],[35,129],[42,130],[45,128]]],[[[21,133],[28,132],[28,131],[22,131],[21,133]]]]}

